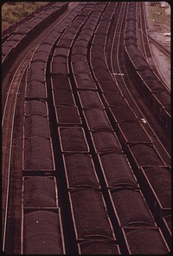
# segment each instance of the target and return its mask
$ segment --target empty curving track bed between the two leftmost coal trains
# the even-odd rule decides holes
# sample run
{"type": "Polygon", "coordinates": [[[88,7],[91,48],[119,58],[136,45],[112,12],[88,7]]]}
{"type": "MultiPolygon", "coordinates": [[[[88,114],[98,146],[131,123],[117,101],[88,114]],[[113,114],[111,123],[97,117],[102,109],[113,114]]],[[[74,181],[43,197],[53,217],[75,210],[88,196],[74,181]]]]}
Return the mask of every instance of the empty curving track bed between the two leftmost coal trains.
{"type": "MultiPolygon", "coordinates": [[[[69,4],[69,10],[62,15],[63,18],[67,13],[74,8],[76,3],[69,4]]],[[[31,41],[29,45],[27,45],[26,49],[23,49],[14,62],[14,65],[9,69],[8,73],[4,75],[2,82],[2,177],[3,177],[3,196],[2,196],[2,222],[3,222],[3,251],[8,253],[15,252],[20,253],[20,218],[21,213],[19,207],[21,205],[20,202],[20,194],[22,189],[22,172],[14,173],[14,161],[12,157],[15,157],[14,151],[19,150],[20,154],[16,154],[19,159],[21,159],[22,155],[22,131],[21,135],[17,134],[18,130],[21,130],[19,126],[22,122],[23,109],[20,109],[20,104],[23,103],[23,88],[25,81],[25,73],[26,69],[29,65],[29,62],[35,52],[35,49],[42,42],[45,35],[47,35],[48,30],[50,30],[54,25],[56,25],[60,21],[60,18],[57,18],[53,24],[50,24],[46,30],[44,30],[40,35],[35,37],[35,40],[31,41]],[[10,85],[9,87],[7,86],[10,85]],[[21,101],[21,102],[20,102],[21,101]],[[21,115],[21,116],[20,116],[21,115]],[[18,116],[18,117],[17,117],[18,116]],[[17,120],[18,118],[18,120],[17,120]],[[16,121],[17,120],[17,121],[16,121]],[[18,123],[16,123],[18,122],[18,123]],[[16,128],[14,130],[14,127],[16,128]],[[12,156],[11,156],[12,155],[12,156]],[[15,177],[15,178],[14,178],[15,177]],[[10,183],[15,180],[14,190],[10,188],[10,183]],[[16,187],[15,187],[16,186],[16,187]],[[19,188],[18,188],[19,187],[19,188]],[[10,194],[13,194],[11,196],[10,194]],[[16,197],[19,200],[16,202],[17,207],[14,206],[13,202],[16,201],[16,197]],[[16,208],[16,213],[14,213],[14,208],[16,208]],[[9,210],[10,209],[10,210],[9,210]],[[16,216],[16,217],[14,217],[16,216]],[[16,218],[16,219],[15,219],[16,218]],[[8,222],[10,224],[8,224],[8,222]],[[15,222],[17,223],[16,229],[15,222]],[[13,230],[13,235],[11,236],[11,230],[13,230]],[[16,244],[14,245],[11,240],[15,240],[16,244]]],[[[4,40],[5,42],[5,40],[4,40]]],[[[17,165],[17,164],[16,164],[17,165]]],[[[18,168],[22,169],[22,165],[18,164],[18,168]]],[[[17,167],[15,167],[17,169],[17,167]]]]}

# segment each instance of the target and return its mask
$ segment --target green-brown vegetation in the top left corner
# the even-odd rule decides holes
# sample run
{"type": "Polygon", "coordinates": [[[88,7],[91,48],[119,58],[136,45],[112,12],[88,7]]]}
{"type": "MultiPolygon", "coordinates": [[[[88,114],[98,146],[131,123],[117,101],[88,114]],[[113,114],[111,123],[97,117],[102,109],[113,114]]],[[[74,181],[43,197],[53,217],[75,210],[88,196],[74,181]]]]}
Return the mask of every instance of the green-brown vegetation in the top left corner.
{"type": "Polygon", "coordinates": [[[10,24],[22,19],[23,16],[35,11],[41,5],[48,2],[8,2],[3,3],[2,11],[2,30],[9,27],[10,24]]]}

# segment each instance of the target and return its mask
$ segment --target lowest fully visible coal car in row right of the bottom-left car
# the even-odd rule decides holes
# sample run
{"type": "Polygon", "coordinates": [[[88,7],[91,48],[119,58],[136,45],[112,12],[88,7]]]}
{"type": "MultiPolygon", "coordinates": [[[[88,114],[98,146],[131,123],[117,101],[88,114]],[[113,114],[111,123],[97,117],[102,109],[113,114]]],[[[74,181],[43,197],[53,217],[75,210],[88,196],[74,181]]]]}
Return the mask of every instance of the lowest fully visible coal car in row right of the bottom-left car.
{"type": "Polygon", "coordinates": [[[76,240],[115,240],[105,200],[98,189],[80,187],[70,190],[68,194],[76,240]]]}

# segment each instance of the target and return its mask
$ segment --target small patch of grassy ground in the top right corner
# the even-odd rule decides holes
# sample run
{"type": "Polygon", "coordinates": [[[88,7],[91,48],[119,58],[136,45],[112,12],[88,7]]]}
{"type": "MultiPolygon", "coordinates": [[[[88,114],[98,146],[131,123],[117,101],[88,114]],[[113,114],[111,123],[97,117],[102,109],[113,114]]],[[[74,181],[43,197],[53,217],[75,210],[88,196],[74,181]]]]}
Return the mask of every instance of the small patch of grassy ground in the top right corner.
{"type": "Polygon", "coordinates": [[[170,15],[165,13],[165,8],[160,7],[160,3],[154,6],[149,6],[149,17],[155,23],[164,24],[170,26],[170,15]]]}

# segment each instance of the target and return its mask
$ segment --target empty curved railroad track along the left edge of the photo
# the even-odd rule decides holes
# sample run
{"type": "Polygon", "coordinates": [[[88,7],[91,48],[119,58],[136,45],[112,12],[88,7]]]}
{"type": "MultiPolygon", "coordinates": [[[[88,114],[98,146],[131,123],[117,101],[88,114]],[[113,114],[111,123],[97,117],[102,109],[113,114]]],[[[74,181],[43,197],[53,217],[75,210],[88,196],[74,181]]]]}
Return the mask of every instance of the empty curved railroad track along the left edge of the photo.
{"type": "MultiPolygon", "coordinates": [[[[17,63],[16,60],[16,67],[12,66],[11,69],[9,69],[9,72],[5,77],[3,78],[3,115],[2,115],[2,177],[3,177],[3,191],[2,191],[2,223],[3,223],[3,230],[2,230],[2,244],[3,244],[3,252],[6,253],[12,253],[14,252],[14,245],[11,241],[11,231],[14,230],[15,221],[17,220],[17,214],[14,212],[14,208],[11,207],[13,205],[14,196],[16,193],[15,187],[14,191],[11,187],[11,183],[13,183],[15,180],[17,181],[17,187],[22,187],[22,173],[19,172],[15,174],[11,170],[11,164],[12,164],[12,155],[14,154],[13,148],[16,148],[17,145],[14,145],[14,141],[18,143],[21,139],[16,140],[16,137],[18,136],[16,133],[16,130],[14,130],[15,126],[15,116],[17,113],[17,109],[19,109],[20,102],[18,101],[20,90],[22,90],[23,93],[23,83],[24,83],[24,75],[25,71],[29,65],[29,62],[35,52],[35,49],[38,47],[38,45],[42,42],[42,39],[47,35],[48,30],[52,29],[53,26],[56,26],[57,23],[60,22],[61,19],[64,18],[64,16],[67,16],[70,10],[74,8],[78,3],[70,3],[69,4],[69,10],[67,10],[61,17],[58,17],[54,23],[48,25],[48,28],[44,31],[41,31],[40,34],[38,34],[29,45],[27,45],[26,49],[23,49],[21,52],[21,56],[19,55],[17,58],[19,62],[17,63]],[[21,58],[21,61],[20,61],[21,58]],[[16,69],[14,69],[16,68],[16,69]],[[6,86],[7,82],[10,82],[10,86],[6,86]],[[16,136],[14,138],[14,136],[16,136]],[[14,180],[15,179],[15,180],[14,180]],[[16,215],[16,220],[14,219],[14,216],[16,215]]],[[[19,128],[21,129],[21,128],[19,128]]],[[[21,148],[22,152],[22,148],[21,148]]],[[[18,164],[20,167],[20,163],[18,164]]],[[[15,181],[15,182],[16,182],[15,181]]],[[[16,195],[17,198],[18,195],[16,195]]],[[[16,209],[16,212],[20,212],[19,209],[16,209]]],[[[19,220],[17,220],[19,221],[19,220]]],[[[13,233],[13,236],[15,238],[20,236],[20,230],[18,227],[16,227],[16,233],[13,233]]],[[[13,238],[13,240],[14,240],[13,238]]],[[[16,248],[16,253],[19,253],[19,249],[16,248]]]]}

